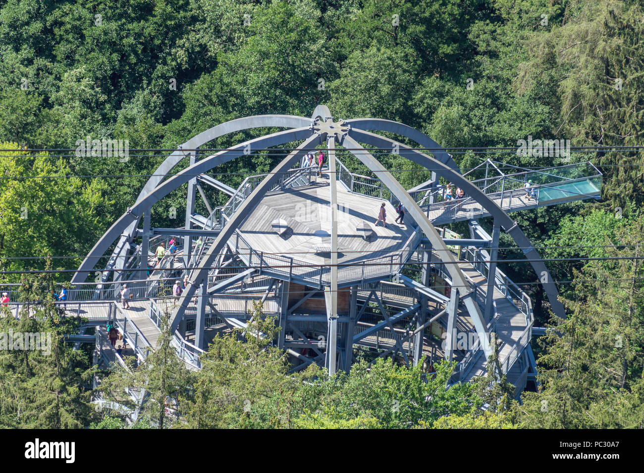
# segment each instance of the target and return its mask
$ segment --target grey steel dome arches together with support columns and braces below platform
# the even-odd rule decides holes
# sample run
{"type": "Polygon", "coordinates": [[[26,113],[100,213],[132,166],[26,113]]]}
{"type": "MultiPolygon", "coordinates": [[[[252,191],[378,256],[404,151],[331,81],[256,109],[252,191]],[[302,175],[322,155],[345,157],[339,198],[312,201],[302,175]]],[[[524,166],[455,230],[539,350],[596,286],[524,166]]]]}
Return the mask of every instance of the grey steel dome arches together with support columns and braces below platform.
{"type": "MultiPolygon", "coordinates": [[[[381,295],[377,293],[377,286],[379,281],[362,281],[363,285],[358,287],[357,283],[345,284],[350,287],[350,312],[347,314],[339,314],[337,310],[337,297],[339,293],[338,286],[338,268],[337,268],[337,219],[332,218],[331,228],[331,264],[330,264],[330,280],[323,283],[321,280],[319,287],[309,287],[308,292],[303,295],[301,300],[295,304],[294,307],[288,307],[289,297],[289,277],[276,277],[272,275],[270,283],[266,287],[263,301],[269,297],[269,294],[274,292],[275,299],[278,301],[278,319],[282,328],[281,335],[278,343],[280,346],[287,347],[289,342],[285,339],[285,332],[292,332],[293,337],[298,337],[298,343],[314,353],[314,356],[307,357],[295,350],[290,349],[295,358],[301,361],[299,366],[294,369],[301,369],[308,366],[312,362],[324,364],[330,373],[334,373],[339,367],[340,369],[348,370],[352,364],[352,347],[354,344],[359,344],[361,340],[370,337],[381,329],[387,329],[393,337],[393,346],[388,350],[381,353],[381,356],[386,356],[392,351],[400,353],[404,361],[409,363],[410,356],[414,363],[419,362],[422,355],[422,339],[424,329],[427,328],[432,322],[442,317],[446,318],[447,333],[451,334],[457,328],[457,314],[459,306],[463,306],[464,310],[473,323],[477,339],[479,340],[477,350],[481,352],[486,358],[490,353],[489,336],[491,331],[494,331],[493,313],[495,306],[493,306],[493,297],[490,295],[483,303],[477,303],[477,297],[480,295],[480,289],[475,284],[468,280],[462,268],[459,266],[459,261],[448,248],[448,245],[443,239],[443,235],[439,234],[435,228],[428,212],[421,209],[417,200],[410,195],[410,191],[404,187],[392,176],[392,174],[384,168],[384,166],[370,153],[368,149],[363,147],[363,144],[372,145],[377,149],[390,149],[395,153],[408,158],[413,162],[421,165],[422,167],[431,171],[431,180],[424,184],[423,190],[432,190],[438,187],[438,178],[442,177],[463,189],[468,196],[473,199],[478,205],[485,209],[494,219],[493,236],[487,236],[488,239],[481,239],[480,234],[482,230],[478,227],[477,221],[470,221],[470,228],[472,232],[472,247],[475,252],[482,252],[482,248],[491,246],[492,250],[488,257],[494,261],[497,257],[495,246],[498,246],[498,235],[500,230],[504,230],[509,234],[520,248],[524,248],[524,253],[529,259],[536,272],[536,275],[544,287],[545,293],[551,303],[553,311],[560,317],[565,317],[564,308],[558,301],[558,292],[556,285],[549,274],[544,262],[540,255],[536,252],[535,248],[531,245],[529,239],[522,230],[516,225],[496,201],[490,198],[484,190],[479,189],[477,185],[472,183],[468,178],[462,175],[457,164],[453,161],[450,154],[442,150],[431,138],[421,133],[420,131],[398,122],[390,120],[380,120],[377,118],[357,118],[353,120],[337,120],[331,116],[330,111],[326,106],[319,105],[314,110],[310,118],[302,116],[291,115],[259,115],[250,116],[247,118],[239,118],[231,120],[220,125],[204,131],[184,144],[180,145],[175,152],[170,154],[166,160],[156,169],[153,176],[149,178],[144,189],[138,195],[137,201],[115,221],[115,223],[105,232],[105,234],[97,241],[90,253],[85,257],[84,261],[79,266],[77,272],[71,281],[73,284],[86,284],[85,281],[91,272],[97,271],[95,266],[98,261],[105,257],[109,248],[115,244],[109,263],[105,268],[99,268],[102,271],[102,279],[95,287],[95,299],[101,299],[102,290],[108,284],[113,284],[114,281],[120,281],[124,275],[127,261],[131,258],[132,254],[138,252],[140,268],[142,270],[147,268],[146,255],[149,254],[149,241],[153,235],[178,235],[183,238],[183,258],[185,274],[189,277],[190,284],[187,289],[182,293],[178,299],[175,309],[170,315],[171,329],[175,331],[181,328],[181,324],[185,321],[190,301],[194,298],[196,291],[199,291],[200,301],[197,304],[196,325],[195,325],[195,344],[198,348],[204,348],[204,326],[205,326],[205,311],[207,306],[210,306],[211,313],[219,314],[223,319],[220,311],[214,308],[213,304],[209,302],[208,297],[223,293],[231,286],[244,281],[256,272],[262,273],[261,260],[260,267],[250,267],[248,270],[240,271],[237,274],[231,275],[229,279],[225,279],[216,286],[209,286],[209,275],[212,273],[214,266],[223,266],[224,260],[232,261],[234,255],[230,254],[229,241],[235,236],[238,228],[242,227],[245,219],[253,212],[260,201],[265,197],[265,194],[272,190],[276,183],[283,183],[283,176],[287,175],[294,165],[296,165],[304,154],[312,151],[319,144],[327,144],[328,149],[328,164],[330,175],[330,196],[329,201],[331,204],[331,212],[335,216],[337,214],[337,175],[341,172],[336,169],[336,145],[348,149],[350,153],[354,154],[362,163],[378,176],[382,185],[388,189],[392,196],[397,201],[403,203],[408,210],[410,218],[419,231],[424,234],[422,239],[423,252],[420,253],[417,263],[422,266],[421,281],[413,281],[408,277],[402,275],[397,276],[397,281],[402,285],[411,288],[415,291],[417,300],[406,308],[401,308],[397,313],[389,315],[390,310],[385,307],[386,302],[383,302],[382,291],[381,295]],[[200,147],[212,140],[224,136],[225,134],[253,129],[258,127],[282,127],[283,131],[278,131],[258,138],[252,138],[241,144],[235,145],[230,149],[219,151],[218,153],[210,156],[202,157],[199,154],[200,147]],[[384,131],[403,136],[417,143],[419,147],[424,149],[431,149],[430,153],[424,153],[419,149],[414,149],[405,145],[397,140],[386,138],[380,134],[371,133],[370,131],[384,131]],[[267,149],[277,145],[289,144],[292,142],[299,142],[296,146],[279,164],[272,169],[272,171],[263,177],[259,183],[249,187],[251,192],[245,192],[238,201],[234,201],[234,211],[230,215],[226,215],[221,221],[223,225],[215,228],[214,214],[216,213],[205,198],[204,191],[202,190],[201,183],[210,185],[214,189],[225,192],[236,199],[236,191],[231,187],[214,180],[205,172],[216,169],[223,163],[229,162],[239,156],[252,153],[261,149],[267,149]],[[184,158],[189,157],[189,165],[182,171],[170,174],[175,166],[180,163],[184,158]],[[334,177],[336,176],[336,177],[334,177]],[[281,181],[280,181],[281,180],[281,181]],[[156,202],[167,196],[170,192],[178,187],[188,184],[186,212],[185,212],[185,227],[182,229],[168,229],[156,228],[151,229],[150,210],[156,202]],[[208,211],[211,212],[210,223],[207,225],[202,223],[202,228],[193,228],[195,222],[200,221],[194,214],[194,201],[196,191],[199,191],[208,211]],[[427,213],[427,214],[426,214],[427,213]],[[140,220],[143,219],[143,228],[140,230],[140,220]],[[477,234],[478,232],[478,234],[477,234]],[[197,237],[209,237],[212,241],[207,245],[207,248],[194,249],[194,239],[197,237]],[[134,250],[134,241],[136,238],[142,237],[142,243],[134,250]],[[474,242],[474,243],[473,243],[474,242]],[[477,243],[479,242],[479,243],[477,243]],[[439,263],[441,274],[445,280],[451,285],[450,296],[446,297],[430,286],[430,273],[431,263],[439,263]],[[108,281],[110,276],[113,281],[108,281]],[[365,289],[366,288],[366,289],[365,289]],[[359,291],[368,292],[368,297],[358,311],[358,293],[359,291]],[[295,313],[294,309],[305,302],[310,297],[323,294],[325,304],[327,307],[326,317],[319,316],[303,316],[295,313]],[[428,318],[428,304],[430,301],[436,301],[444,309],[437,314],[428,318]],[[370,302],[377,304],[384,320],[373,324],[372,326],[358,331],[358,324],[361,315],[366,310],[370,302]],[[396,335],[397,329],[393,326],[399,320],[408,320],[409,327],[403,337],[396,335]],[[310,322],[318,322],[326,324],[324,341],[310,340],[303,330],[298,327],[299,322],[308,320],[310,322]],[[408,347],[412,346],[413,340],[413,353],[406,353],[403,345],[406,343],[408,347]],[[339,358],[337,357],[339,355],[339,358]]],[[[487,177],[487,174],[486,174],[487,177]]],[[[381,191],[382,193],[382,191],[381,191]]],[[[433,202],[433,199],[430,199],[433,202]]],[[[484,232],[482,232],[484,233],[484,232]]],[[[449,243],[453,243],[450,241],[449,243]]],[[[205,246],[205,245],[204,245],[205,246]]],[[[237,248],[234,248],[237,250],[237,248]]],[[[487,253],[486,253],[487,254],[487,253]]],[[[474,255],[474,263],[476,263],[477,256],[474,255]]],[[[251,259],[248,262],[249,266],[252,263],[251,259]]],[[[227,263],[226,263],[227,264],[227,263]]],[[[475,266],[476,267],[476,266],[475,266]]],[[[495,264],[491,264],[487,270],[488,277],[486,282],[487,294],[491,294],[495,290],[495,284],[498,286],[498,270],[495,264]]],[[[145,274],[145,273],[143,273],[145,274]]],[[[268,274],[268,272],[267,272],[268,274]]],[[[384,278],[381,278],[384,279],[384,278]]],[[[499,286],[500,287],[500,286],[499,286]]],[[[243,322],[234,320],[234,326],[244,326],[243,322]]],[[[400,329],[398,329],[400,330],[400,329]]],[[[185,333],[184,333],[185,335],[185,333]]],[[[449,338],[449,337],[448,337],[449,338]]],[[[296,344],[296,339],[290,341],[291,344],[296,344]]],[[[451,359],[455,346],[453,340],[450,340],[446,346],[446,357],[451,359]]],[[[470,350],[472,351],[472,350],[470,350]]],[[[470,360],[471,363],[474,360],[470,360]]],[[[509,369],[510,366],[507,367],[509,369]]],[[[461,373],[461,377],[464,373],[461,373]]]]}

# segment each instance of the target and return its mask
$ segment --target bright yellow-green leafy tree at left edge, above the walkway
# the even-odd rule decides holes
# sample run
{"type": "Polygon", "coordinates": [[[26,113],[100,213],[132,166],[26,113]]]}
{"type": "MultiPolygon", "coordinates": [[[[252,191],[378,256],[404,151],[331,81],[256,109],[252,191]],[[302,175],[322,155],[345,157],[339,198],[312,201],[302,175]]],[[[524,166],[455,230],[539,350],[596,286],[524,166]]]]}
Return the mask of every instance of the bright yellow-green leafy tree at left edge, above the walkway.
{"type": "MultiPolygon", "coordinates": [[[[0,143],[0,262],[3,270],[43,268],[44,256],[84,255],[108,223],[106,185],[71,177],[68,164],[0,143]],[[15,179],[14,176],[23,176],[15,179]],[[5,259],[33,256],[34,260],[5,259]]],[[[71,260],[73,264],[81,259],[71,260]]],[[[66,262],[68,263],[68,261],[66,262]]],[[[4,276],[10,282],[9,276],[4,276]]]]}

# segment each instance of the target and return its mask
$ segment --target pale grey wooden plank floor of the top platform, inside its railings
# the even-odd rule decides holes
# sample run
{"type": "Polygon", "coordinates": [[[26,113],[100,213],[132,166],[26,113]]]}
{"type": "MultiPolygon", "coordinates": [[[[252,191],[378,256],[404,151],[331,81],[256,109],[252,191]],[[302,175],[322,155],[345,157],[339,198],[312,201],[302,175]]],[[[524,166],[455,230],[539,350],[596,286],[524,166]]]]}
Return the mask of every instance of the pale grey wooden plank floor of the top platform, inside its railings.
{"type": "MultiPolygon", "coordinates": [[[[397,213],[388,201],[348,192],[337,188],[338,264],[351,264],[339,268],[339,279],[361,278],[363,261],[381,263],[366,266],[368,271],[390,271],[390,260],[399,264],[399,254],[413,234],[413,228],[394,223],[397,213]],[[385,203],[386,227],[374,225],[381,203],[385,203]],[[372,243],[365,241],[359,227],[368,225],[377,236],[372,243]],[[380,258],[381,261],[374,261],[380,258]]],[[[316,253],[316,246],[330,244],[332,216],[328,180],[318,178],[317,183],[295,189],[269,192],[240,228],[240,234],[256,252],[265,254],[270,266],[288,264],[290,258],[301,264],[305,274],[319,275],[319,266],[330,264],[330,255],[316,253]],[[289,230],[279,235],[272,228],[272,221],[287,222],[289,230]],[[275,255],[271,257],[270,255],[275,255]]],[[[236,245],[236,237],[231,238],[236,245]]],[[[247,248],[240,242],[243,255],[247,248]]],[[[288,272],[288,270],[287,270],[288,272]]]]}

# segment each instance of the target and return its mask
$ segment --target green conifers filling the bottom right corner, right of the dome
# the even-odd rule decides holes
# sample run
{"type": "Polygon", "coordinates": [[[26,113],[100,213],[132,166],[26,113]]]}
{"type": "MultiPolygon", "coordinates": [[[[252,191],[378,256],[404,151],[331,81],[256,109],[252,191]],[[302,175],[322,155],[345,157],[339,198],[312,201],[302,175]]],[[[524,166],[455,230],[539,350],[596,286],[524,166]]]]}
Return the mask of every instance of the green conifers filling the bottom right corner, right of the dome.
{"type": "MultiPolygon", "coordinates": [[[[644,219],[616,230],[625,245],[641,242],[644,219]]],[[[607,248],[614,261],[576,272],[565,300],[572,316],[553,321],[539,339],[540,393],[524,394],[520,425],[546,428],[641,427],[644,373],[644,269],[639,246],[607,248]]]]}

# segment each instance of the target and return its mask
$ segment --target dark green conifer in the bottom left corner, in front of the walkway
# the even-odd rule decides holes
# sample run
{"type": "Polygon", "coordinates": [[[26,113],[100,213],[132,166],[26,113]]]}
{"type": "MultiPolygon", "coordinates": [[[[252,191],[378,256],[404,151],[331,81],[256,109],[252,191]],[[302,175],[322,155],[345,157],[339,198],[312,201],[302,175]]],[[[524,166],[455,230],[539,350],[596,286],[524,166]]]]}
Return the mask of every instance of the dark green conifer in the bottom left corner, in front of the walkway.
{"type": "MultiPolygon", "coordinates": [[[[48,269],[51,269],[49,264],[48,269]]],[[[90,357],[75,351],[64,335],[78,333],[82,319],[64,317],[44,288],[25,277],[22,289],[41,301],[26,306],[16,320],[6,308],[0,317],[0,427],[77,429],[95,419],[91,405],[90,357]],[[12,337],[10,334],[12,333],[12,337]],[[40,346],[34,334],[39,334],[40,346]],[[29,346],[24,338],[29,335],[29,346]],[[8,343],[13,338],[13,349],[8,343]],[[18,345],[17,340],[22,340],[18,345]]]]}

